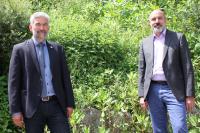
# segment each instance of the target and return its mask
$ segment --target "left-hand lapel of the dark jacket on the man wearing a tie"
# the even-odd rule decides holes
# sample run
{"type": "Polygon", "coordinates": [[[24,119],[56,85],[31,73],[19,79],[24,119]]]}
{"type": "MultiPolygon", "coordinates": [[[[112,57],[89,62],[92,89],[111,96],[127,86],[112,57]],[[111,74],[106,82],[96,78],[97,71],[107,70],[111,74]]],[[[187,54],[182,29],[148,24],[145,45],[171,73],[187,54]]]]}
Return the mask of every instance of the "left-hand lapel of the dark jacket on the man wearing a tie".
{"type": "Polygon", "coordinates": [[[27,41],[27,46],[28,46],[28,52],[30,53],[32,57],[33,63],[35,64],[37,71],[40,72],[39,62],[37,59],[37,54],[36,54],[34,42],[32,39],[29,39],[27,41]]]}

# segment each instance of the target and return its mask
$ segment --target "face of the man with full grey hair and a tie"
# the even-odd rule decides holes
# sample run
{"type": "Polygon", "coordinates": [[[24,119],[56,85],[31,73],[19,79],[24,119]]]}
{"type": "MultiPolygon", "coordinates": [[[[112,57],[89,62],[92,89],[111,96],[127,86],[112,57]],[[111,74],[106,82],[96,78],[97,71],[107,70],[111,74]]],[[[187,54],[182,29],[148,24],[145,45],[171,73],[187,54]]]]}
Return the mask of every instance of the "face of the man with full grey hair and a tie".
{"type": "Polygon", "coordinates": [[[29,25],[30,31],[37,41],[42,42],[46,39],[49,31],[48,20],[44,17],[38,17],[34,19],[33,24],[29,25]]]}

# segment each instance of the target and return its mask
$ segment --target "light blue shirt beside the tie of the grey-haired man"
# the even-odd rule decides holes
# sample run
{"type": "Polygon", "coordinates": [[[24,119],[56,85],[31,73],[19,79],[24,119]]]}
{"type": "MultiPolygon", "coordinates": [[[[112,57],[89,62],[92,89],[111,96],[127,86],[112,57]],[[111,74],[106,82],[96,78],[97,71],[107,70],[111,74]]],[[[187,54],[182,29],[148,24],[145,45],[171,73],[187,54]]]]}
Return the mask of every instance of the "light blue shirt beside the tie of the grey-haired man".
{"type": "MultiPolygon", "coordinates": [[[[33,39],[33,42],[35,45],[37,58],[38,58],[38,53],[39,53],[38,45],[41,45],[41,44],[39,44],[38,41],[34,37],[32,37],[32,39],[33,39]]],[[[45,85],[46,85],[46,89],[47,89],[47,96],[53,96],[53,95],[55,95],[55,91],[54,91],[53,84],[52,84],[52,73],[51,73],[51,68],[50,68],[49,52],[47,49],[46,41],[43,41],[42,43],[44,44],[44,60],[45,60],[44,71],[45,71],[45,85]]]]}

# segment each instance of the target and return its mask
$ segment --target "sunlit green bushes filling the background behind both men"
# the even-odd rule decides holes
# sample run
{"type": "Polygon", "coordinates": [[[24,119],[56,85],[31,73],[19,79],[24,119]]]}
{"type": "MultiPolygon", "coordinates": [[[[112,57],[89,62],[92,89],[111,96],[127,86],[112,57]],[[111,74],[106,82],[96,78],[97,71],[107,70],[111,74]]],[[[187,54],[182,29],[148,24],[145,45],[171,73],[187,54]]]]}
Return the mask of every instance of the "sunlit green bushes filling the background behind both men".
{"type": "MultiPolygon", "coordinates": [[[[25,3],[30,10],[25,10],[24,4],[19,11],[13,10],[13,7],[19,7],[11,6],[10,1],[0,6],[7,9],[0,11],[6,14],[2,18],[9,18],[6,21],[8,23],[0,20],[5,25],[0,31],[0,44],[4,46],[1,55],[4,58],[3,64],[8,64],[8,53],[12,45],[30,37],[26,29],[30,12],[46,11],[51,17],[49,39],[63,45],[68,58],[77,106],[71,119],[74,132],[78,132],[78,128],[82,132],[89,132],[89,127],[81,123],[83,110],[89,107],[101,111],[99,132],[114,132],[114,128],[119,128],[121,132],[152,132],[149,115],[142,112],[138,104],[138,48],[140,40],[151,33],[147,21],[149,13],[153,9],[164,8],[169,29],[184,32],[190,43],[197,83],[197,109],[189,114],[188,126],[191,133],[200,132],[198,0],[32,0],[25,3]],[[122,120],[110,125],[113,116],[124,114],[130,114],[129,122],[122,120]]],[[[4,108],[1,108],[0,114],[4,115],[0,119],[0,129],[7,127],[7,132],[17,132],[18,129],[12,127],[8,115],[5,77],[1,80],[4,83],[1,89],[4,99],[1,104],[4,108]]]]}

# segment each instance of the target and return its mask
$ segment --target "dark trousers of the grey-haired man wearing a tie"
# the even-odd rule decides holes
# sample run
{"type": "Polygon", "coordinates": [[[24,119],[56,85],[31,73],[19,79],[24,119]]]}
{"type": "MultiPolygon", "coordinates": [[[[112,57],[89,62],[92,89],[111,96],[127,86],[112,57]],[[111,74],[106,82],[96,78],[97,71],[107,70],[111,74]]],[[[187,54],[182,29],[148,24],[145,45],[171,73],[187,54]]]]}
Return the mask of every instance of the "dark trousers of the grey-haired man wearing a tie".
{"type": "Polygon", "coordinates": [[[26,133],[44,133],[45,125],[51,133],[70,133],[68,118],[57,100],[41,101],[33,117],[24,121],[26,133]]]}

